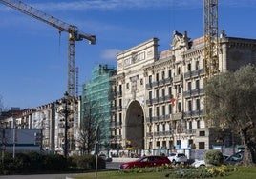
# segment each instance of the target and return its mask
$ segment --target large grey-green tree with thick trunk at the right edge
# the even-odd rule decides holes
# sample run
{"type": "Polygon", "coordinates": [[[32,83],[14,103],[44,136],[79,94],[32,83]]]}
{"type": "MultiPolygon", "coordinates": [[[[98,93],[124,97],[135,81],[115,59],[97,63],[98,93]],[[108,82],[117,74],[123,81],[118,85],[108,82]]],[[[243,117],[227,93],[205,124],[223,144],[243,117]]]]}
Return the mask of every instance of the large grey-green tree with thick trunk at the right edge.
{"type": "Polygon", "coordinates": [[[208,124],[240,136],[245,147],[243,164],[256,163],[256,68],[248,65],[225,72],[205,86],[208,124]]]}

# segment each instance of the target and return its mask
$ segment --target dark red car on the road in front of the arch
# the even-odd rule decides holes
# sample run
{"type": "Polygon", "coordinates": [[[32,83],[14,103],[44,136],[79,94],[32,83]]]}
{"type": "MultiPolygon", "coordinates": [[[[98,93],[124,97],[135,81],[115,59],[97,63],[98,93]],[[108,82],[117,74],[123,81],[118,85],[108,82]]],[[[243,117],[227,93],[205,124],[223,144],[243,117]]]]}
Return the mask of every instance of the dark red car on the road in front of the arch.
{"type": "Polygon", "coordinates": [[[120,169],[150,168],[165,164],[171,164],[170,160],[166,156],[144,156],[136,161],[122,163],[120,165],[120,169]]]}

